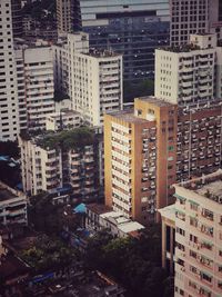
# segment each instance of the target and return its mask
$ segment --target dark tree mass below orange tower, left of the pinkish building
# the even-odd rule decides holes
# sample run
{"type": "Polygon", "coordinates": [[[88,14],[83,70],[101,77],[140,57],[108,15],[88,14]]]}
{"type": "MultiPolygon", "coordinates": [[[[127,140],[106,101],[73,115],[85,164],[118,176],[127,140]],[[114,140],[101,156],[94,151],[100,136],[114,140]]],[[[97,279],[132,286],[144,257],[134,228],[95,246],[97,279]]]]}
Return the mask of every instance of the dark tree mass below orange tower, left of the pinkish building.
{"type": "Polygon", "coordinates": [[[161,268],[159,225],[150,226],[139,238],[112,238],[109,232],[100,231],[90,239],[85,260],[90,268],[121,283],[130,296],[163,297],[169,287],[161,268]]]}

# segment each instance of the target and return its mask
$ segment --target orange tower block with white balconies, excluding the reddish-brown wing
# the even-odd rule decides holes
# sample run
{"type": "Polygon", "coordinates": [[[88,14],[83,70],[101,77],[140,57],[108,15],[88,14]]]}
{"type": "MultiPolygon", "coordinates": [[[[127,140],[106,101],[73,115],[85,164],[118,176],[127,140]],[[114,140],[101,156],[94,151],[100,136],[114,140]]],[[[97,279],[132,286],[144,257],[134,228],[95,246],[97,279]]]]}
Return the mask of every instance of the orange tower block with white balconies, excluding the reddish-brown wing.
{"type": "Polygon", "coordinates": [[[134,111],[105,115],[104,119],[105,204],[148,225],[173,194],[176,106],[139,98],[134,111]]]}

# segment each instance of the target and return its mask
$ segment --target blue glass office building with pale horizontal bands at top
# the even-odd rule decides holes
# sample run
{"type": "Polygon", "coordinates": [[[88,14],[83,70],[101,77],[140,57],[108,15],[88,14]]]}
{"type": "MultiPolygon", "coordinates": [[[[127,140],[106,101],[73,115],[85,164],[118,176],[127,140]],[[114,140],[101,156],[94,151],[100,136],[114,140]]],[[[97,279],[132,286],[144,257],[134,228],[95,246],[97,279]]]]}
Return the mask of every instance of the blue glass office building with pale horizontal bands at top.
{"type": "Polygon", "coordinates": [[[154,49],[170,43],[168,0],[79,0],[90,47],[123,56],[124,80],[154,77],[154,49]]]}

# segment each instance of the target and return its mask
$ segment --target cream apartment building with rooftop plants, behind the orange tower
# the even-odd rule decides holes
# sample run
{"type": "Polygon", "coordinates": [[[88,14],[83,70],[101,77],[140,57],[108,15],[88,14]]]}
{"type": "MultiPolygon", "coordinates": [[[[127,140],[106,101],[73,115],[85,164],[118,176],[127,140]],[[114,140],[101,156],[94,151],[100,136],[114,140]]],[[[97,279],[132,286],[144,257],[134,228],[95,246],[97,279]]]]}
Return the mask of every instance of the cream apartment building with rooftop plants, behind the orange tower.
{"type": "Polygon", "coordinates": [[[214,98],[215,34],[191,34],[190,43],[155,50],[155,97],[181,107],[214,98]]]}

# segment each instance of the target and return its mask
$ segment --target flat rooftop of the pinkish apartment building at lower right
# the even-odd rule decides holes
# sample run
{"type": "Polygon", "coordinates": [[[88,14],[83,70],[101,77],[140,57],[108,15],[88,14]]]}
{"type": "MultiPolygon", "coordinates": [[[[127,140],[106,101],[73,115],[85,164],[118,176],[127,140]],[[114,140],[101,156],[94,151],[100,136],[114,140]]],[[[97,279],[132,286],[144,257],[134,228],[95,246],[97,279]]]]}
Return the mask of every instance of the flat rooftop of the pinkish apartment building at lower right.
{"type": "Polygon", "coordinates": [[[178,185],[218,204],[222,204],[222,169],[178,185]]]}

